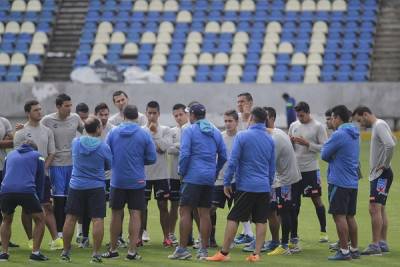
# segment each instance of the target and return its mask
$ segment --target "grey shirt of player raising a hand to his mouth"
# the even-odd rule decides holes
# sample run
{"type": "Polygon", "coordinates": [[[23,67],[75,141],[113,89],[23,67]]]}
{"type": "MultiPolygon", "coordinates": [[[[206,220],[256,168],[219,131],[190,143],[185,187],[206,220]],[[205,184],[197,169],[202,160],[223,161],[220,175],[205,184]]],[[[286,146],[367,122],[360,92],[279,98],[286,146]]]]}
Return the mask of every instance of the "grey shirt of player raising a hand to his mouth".
{"type": "Polygon", "coordinates": [[[147,126],[144,126],[143,129],[151,134],[153,142],[157,147],[157,162],[153,165],[145,166],[146,179],[169,179],[167,150],[172,146],[171,129],[168,126],[159,125],[156,134],[152,133],[147,126]]]}

